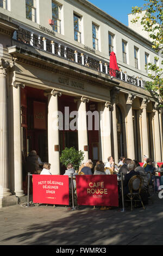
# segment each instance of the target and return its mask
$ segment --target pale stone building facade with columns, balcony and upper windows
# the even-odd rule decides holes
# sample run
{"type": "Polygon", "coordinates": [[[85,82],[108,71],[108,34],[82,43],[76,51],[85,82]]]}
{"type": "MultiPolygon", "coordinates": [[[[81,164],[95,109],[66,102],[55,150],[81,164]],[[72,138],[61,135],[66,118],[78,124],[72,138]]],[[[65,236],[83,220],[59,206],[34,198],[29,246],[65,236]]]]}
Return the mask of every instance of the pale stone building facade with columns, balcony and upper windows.
{"type": "Polygon", "coordinates": [[[24,196],[24,161],[33,149],[52,174],[63,172],[65,147],[94,162],[111,155],[116,163],[122,155],[142,162],[144,154],[162,162],[161,99],[144,88],[147,57],[155,56],[161,60],[148,39],[86,0],[1,0],[1,200],[24,196]],[[61,129],[54,127],[58,111],[61,129]],[[74,111],[78,129],[70,127],[74,111]],[[93,113],[98,129],[88,127],[93,113]]]}

